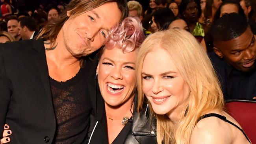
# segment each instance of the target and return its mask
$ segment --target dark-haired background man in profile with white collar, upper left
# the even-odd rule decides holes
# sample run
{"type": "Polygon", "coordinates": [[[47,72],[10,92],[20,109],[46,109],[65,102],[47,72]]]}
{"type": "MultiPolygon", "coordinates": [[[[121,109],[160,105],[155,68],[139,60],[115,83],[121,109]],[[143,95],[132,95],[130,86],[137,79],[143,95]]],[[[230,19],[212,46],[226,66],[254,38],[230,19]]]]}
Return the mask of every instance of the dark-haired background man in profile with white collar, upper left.
{"type": "Polygon", "coordinates": [[[22,40],[33,39],[38,33],[37,24],[32,17],[19,18],[19,35],[22,40]]]}

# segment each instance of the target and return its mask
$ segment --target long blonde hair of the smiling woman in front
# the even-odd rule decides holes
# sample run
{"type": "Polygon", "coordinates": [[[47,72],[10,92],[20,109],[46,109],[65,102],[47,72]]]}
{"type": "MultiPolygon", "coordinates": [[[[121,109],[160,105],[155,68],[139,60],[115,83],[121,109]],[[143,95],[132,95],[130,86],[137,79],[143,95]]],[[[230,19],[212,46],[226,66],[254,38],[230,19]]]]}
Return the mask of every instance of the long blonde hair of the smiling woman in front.
{"type": "Polygon", "coordinates": [[[174,123],[166,115],[156,114],[157,140],[159,144],[162,140],[165,144],[188,144],[198,118],[213,109],[223,109],[221,87],[208,55],[193,35],[180,29],[159,31],[147,37],[137,54],[138,111],[144,101],[143,61],[148,52],[156,48],[166,50],[190,89],[186,106],[180,109],[184,113],[180,113],[177,122],[174,123]]]}

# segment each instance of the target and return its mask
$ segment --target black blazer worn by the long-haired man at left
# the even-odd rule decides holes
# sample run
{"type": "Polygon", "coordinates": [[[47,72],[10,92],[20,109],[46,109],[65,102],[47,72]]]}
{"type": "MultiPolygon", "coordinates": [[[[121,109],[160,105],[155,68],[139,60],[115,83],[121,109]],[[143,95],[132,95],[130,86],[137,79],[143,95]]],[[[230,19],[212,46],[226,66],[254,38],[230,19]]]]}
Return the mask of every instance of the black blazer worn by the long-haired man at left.
{"type": "Polygon", "coordinates": [[[0,133],[5,123],[13,132],[10,144],[44,144],[54,138],[56,120],[42,40],[0,44],[0,133]]]}

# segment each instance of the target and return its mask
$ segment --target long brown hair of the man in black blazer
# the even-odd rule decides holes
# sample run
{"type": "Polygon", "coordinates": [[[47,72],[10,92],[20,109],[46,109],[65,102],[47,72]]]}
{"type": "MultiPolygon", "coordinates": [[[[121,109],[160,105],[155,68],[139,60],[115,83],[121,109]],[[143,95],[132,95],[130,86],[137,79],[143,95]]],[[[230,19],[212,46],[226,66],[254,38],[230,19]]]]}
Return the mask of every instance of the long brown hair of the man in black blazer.
{"type": "MultiPolygon", "coordinates": [[[[128,16],[126,0],[71,0],[67,5],[67,10],[70,11],[70,17],[76,17],[108,2],[117,3],[118,8],[122,12],[121,20],[128,16]]],[[[41,29],[37,39],[50,40],[51,44],[54,43],[59,31],[68,19],[67,14],[64,14],[59,20],[49,22],[41,29]]]]}

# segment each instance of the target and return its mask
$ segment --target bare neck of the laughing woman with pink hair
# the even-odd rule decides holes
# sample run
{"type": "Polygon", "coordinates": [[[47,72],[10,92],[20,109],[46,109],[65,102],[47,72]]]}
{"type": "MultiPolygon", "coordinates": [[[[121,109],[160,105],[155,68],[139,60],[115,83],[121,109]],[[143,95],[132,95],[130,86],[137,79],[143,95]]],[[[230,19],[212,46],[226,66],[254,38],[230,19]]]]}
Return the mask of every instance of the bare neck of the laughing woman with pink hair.
{"type": "Polygon", "coordinates": [[[113,120],[121,120],[123,117],[128,116],[129,118],[132,116],[131,111],[134,108],[134,96],[119,106],[111,106],[105,102],[106,115],[108,118],[113,120]]]}

